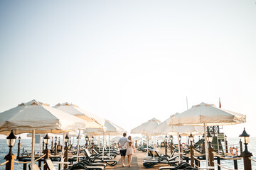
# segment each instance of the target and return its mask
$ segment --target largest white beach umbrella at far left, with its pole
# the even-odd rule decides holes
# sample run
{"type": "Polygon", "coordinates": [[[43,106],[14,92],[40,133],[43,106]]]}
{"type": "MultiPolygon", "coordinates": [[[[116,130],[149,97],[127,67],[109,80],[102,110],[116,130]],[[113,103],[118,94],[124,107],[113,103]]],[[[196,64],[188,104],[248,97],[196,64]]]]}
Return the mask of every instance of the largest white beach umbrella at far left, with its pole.
{"type": "Polygon", "coordinates": [[[0,113],[0,134],[9,135],[32,132],[32,157],[34,157],[35,133],[60,133],[85,129],[86,121],[50,107],[46,103],[32,100],[0,113]]]}

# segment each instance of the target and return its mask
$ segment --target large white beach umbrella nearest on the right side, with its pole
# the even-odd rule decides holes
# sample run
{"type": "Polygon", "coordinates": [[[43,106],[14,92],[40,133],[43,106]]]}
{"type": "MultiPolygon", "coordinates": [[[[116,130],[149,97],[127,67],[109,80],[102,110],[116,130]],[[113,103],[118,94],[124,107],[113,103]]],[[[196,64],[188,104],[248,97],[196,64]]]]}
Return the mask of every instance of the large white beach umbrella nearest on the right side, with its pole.
{"type": "MultiPolygon", "coordinates": [[[[227,111],[223,108],[216,108],[213,104],[201,103],[184,111],[183,113],[172,116],[167,123],[169,125],[197,125],[204,127],[205,146],[207,148],[206,140],[206,126],[211,125],[235,125],[238,123],[245,123],[246,115],[227,111]]],[[[208,149],[206,149],[208,155],[208,149]]],[[[206,156],[206,162],[208,157],[206,156]]],[[[206,164],[208,168],[208,164],[206,164]]]]}

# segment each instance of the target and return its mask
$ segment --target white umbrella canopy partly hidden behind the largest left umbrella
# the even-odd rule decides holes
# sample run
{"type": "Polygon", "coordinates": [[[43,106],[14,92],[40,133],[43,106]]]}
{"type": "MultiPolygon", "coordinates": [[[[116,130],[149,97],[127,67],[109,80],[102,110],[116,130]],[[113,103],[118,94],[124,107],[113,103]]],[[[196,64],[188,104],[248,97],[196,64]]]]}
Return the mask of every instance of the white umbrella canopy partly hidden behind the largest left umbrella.
{"type": "Polygon", "coordinates": [[[102,128],[103,123],[105,122],[104,119],[100,118],[99,116],[89,113],[82,108],[79,108],[78,106],[68,102],[62,104],[58,103],[56,106],[53,106],[53,108],[57,108],[60,111],[69,113],[70,115],[75,115],[78,118],[86,120],[87,127],[90,128],[102,128]]]}

